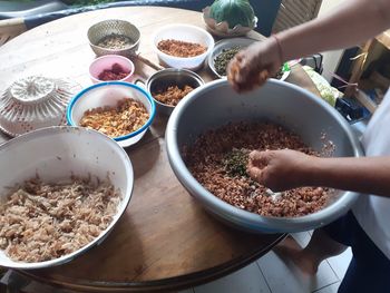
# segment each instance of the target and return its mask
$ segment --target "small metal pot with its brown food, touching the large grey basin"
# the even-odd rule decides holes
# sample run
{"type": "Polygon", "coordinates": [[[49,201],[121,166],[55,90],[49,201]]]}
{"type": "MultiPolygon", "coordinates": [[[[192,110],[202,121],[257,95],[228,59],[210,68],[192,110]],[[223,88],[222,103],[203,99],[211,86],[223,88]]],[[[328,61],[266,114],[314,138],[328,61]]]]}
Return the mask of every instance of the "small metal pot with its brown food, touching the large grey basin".
{"type": "Polygon", "coordinates": [[[156,111],[170,115],[176,105],[192,90],[204,85],[203,79],[187,69],[167,68],[146,81],[147,90],[156,102],[156,111]]]}

